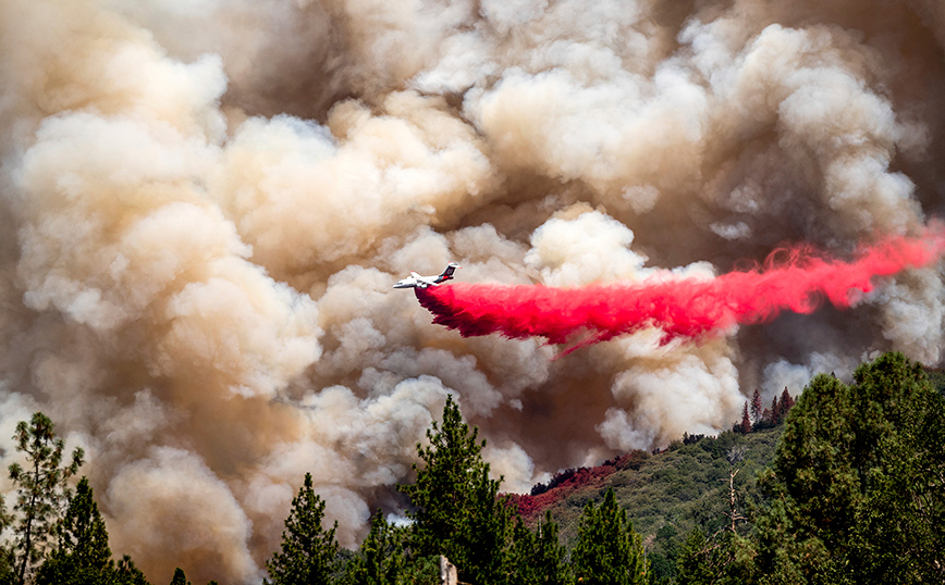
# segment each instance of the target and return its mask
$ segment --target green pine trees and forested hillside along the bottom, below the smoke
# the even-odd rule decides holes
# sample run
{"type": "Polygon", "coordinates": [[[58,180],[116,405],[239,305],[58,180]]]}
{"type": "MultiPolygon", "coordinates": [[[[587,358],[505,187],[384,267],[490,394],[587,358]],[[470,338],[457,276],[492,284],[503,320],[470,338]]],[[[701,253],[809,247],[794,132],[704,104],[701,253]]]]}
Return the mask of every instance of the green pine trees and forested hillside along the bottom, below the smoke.
{"type": "MultiPolygon", "coordinates": [[[[518,497],[499,494],[484,441],[450,398],[417,446],[416,482],[398,486],[408,523],[378,511],[345,550],[306,475],[265,582],[432,584],[445,556],[476,585],[940,583],[943,379],[887,353],[849,385],[818,375],[793,408],[786,393],[769,409],[756,395],[717,437],[565,470],[518,497]]],[[[88,482],[70,487],[82,450],[66,461],[41,413],[16,437],[27,464],[10,468],[0,582],[147,585],[128,557],[111,559],[88,482]]]]}

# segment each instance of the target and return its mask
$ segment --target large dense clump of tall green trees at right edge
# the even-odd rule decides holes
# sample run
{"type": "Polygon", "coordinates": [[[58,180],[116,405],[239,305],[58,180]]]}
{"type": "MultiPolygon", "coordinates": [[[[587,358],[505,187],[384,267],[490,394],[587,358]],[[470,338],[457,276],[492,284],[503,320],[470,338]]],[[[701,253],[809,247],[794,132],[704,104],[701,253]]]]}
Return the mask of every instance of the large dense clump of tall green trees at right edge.
{"type": "Polygon", "coordinates": [[[819,375],[787,416],[759,519],[766,582],[945,580],[945,402],[900,353],[819,375]]]}

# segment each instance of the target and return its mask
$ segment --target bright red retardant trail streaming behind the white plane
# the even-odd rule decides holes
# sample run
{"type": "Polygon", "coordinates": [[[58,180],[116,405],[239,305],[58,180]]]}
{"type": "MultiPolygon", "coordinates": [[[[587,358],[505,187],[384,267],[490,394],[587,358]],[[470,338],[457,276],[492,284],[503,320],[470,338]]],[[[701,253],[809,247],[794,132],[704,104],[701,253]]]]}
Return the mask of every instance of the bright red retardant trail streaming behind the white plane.
{"type": "Polygon", "coordinates": [[[510,338],[545,337],[569,348],[647,327],[662,341],[699,338],[736,324],[770,321],[782,311],[811,313],[823,301],[846,309],[873,289],[873,278],[935,262],[945,252],[945,231],[893,237],[859,250],[851,261],[831,259],[809,247],[781,249],[763,266],[714,278],[663,274],[633,284],[581,288],[456,283],[415,289],[433,323],[464,337],[499,333],[510,338]]]}

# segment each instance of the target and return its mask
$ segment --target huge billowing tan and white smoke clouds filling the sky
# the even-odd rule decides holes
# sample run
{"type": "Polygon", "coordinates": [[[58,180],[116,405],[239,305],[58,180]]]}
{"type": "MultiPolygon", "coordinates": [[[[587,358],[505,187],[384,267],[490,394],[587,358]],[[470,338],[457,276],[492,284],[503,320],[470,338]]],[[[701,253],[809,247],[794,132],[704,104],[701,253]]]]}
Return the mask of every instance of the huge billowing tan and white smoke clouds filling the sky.
{"type": "Polygon", "coordinates": [[[935,263],[846,311],[557,360],[391,286],[450,260],[467,283],[704,281],[921,236],[943,42],[938,0],[5,0],[0,464],[42,410],[115,551],[255,583],[306,471],[346,546],[396,512],[447,393],[527,490],[717,433],[754,387],[885,349],[938,364],[935,263]]]}

